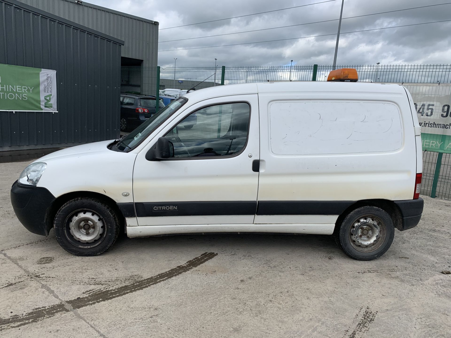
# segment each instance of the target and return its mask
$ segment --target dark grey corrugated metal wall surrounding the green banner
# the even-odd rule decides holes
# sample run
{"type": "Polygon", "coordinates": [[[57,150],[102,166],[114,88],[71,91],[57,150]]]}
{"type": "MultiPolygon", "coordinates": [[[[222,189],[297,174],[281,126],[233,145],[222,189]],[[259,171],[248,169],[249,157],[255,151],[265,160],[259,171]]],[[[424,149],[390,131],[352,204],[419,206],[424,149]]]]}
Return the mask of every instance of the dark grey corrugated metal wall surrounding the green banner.
{"type": "Polygon", "coordinates": [[[0,0],[0,63],[55,69],[59,110],[0,111],[0,151],[118,137],[123,43],[16,0],[0,0]]]}

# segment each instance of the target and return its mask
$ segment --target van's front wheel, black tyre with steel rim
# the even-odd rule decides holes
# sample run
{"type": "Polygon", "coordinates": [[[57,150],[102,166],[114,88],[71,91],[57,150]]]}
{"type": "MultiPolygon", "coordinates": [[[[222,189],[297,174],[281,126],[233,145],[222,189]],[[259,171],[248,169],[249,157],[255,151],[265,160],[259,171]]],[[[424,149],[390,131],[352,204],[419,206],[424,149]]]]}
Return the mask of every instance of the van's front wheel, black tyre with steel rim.
{"type": "Polygon", "coordinates": [[[120,233],[115,211],[96,198],[78,197],[66,202],[56,213],[53,225],[60,246],[76,256],[100,255],[113,245],[120,233]]]}

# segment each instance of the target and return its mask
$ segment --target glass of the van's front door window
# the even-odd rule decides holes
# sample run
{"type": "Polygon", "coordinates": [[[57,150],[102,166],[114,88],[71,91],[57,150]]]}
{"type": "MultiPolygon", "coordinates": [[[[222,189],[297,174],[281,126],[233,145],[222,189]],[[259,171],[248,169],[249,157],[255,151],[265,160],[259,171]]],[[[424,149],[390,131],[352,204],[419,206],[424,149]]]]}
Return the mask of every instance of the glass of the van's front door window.
{"type": "Polygon", "coordinates": [[[189,114],[165,137],[174,145],[171,157],[235,155],[248,137],[248,103],[211,105],[189,114]]]}

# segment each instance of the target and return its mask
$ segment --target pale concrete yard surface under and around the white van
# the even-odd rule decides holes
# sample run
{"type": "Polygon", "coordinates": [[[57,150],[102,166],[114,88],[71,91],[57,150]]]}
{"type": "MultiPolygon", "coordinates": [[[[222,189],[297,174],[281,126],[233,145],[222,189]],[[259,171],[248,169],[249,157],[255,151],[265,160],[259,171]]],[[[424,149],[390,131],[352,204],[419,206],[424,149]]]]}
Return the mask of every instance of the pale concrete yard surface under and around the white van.
{"type": "Polygon", "coordinates": [[[1,337],[450,337],[451,201],[377,260],[330,236],[120,238],[77,257],[16,219],[0,164],[1,337]]]}

